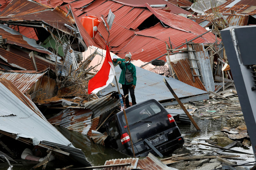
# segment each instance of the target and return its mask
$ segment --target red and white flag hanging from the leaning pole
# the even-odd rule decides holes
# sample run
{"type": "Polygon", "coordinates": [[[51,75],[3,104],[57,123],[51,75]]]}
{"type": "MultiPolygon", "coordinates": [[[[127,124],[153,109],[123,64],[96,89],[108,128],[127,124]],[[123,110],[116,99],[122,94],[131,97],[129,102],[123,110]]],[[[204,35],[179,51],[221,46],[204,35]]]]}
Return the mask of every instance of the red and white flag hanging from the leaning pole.
{"type": "Polygon", "coordinates": [[[89,80],[88,83],[88,93],[97,93],[100,90],[104,89],[111,83],[116,76],[116,72],[112,63],[110,52],[106,44],[106,57],[101,66],[101,69],[97,74],[89,80]]]}

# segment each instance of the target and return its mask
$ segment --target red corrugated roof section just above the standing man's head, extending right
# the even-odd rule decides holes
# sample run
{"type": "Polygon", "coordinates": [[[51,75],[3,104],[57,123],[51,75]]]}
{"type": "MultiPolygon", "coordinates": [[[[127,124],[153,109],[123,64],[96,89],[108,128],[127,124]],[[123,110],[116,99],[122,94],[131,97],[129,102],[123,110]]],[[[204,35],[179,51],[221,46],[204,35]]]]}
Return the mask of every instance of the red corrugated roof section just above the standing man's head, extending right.
{"type": "MultiPolygon", "coordinates": [[[[181,43],[186,42],[186,39],[191,40],[197,37],[197,35],[194,33],[173,29],[171,27],[165,28],[158,23],[153,27],[136,32],[136,35],[131,41],[128,43],[126,42],[125,46],[120,45],[116,48],[112,48],[111,51],[116,51],[119,57],[122,57],[120,54],[131,52],[132,59],[140,59],[141,61],[149,62],[152,59],[166,53],[166,45],[164,41],[169,42],[169,37],[172,43],[172,48],[176,48],[180,46],[181,43]],[[134,46],[134,44],[136,44],[136,46],[134,46]]],[[[213,43],[215,42],[215,36],[212,34],[212,38],[210,40],[205,40],[199,37],[193,42],[213,43]]],[[[186,46],[182,46],[180,48],[183,47],[186,46]]],[[[165,56],[161,57],[160,59],[166,61],[165,56]]]]}

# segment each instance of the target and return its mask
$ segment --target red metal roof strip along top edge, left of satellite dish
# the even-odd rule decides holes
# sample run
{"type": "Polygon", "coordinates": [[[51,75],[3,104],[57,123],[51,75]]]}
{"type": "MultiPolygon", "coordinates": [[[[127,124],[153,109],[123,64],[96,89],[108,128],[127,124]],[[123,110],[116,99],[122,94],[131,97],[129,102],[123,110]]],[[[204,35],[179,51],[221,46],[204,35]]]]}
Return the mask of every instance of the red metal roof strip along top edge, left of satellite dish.
{"type": "Polygon", "coordinates": [[[189,13],[188,11],[186,10],[183,10],[182,8],[172,4],[172,3],[169,3],[169,2],[166,2],[164,0],[114,0],[120,4],[124,4],[124,5],[128,5],[128,6],[133,6],[133,7],[145,7],[145,4],[148,3],[149,5],[159,5],[159,4],[165,4],[166,6],[165,7],[161,7],[162,9],[166,9],[168,8],[168,10],[171,10],[172,13],[176,13],[176,14],[180,14],[180,13],[183,13],[183,14],[191,14],[189,13]]]}

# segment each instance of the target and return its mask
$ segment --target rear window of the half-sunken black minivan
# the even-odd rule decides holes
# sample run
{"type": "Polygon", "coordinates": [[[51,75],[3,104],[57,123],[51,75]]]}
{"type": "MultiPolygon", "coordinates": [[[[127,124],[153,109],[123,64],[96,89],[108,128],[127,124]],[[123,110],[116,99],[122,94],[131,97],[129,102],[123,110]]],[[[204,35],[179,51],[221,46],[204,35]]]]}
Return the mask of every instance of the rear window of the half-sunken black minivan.
{"type": "MultiPolygon", "coordinates": [[[[161,112],[161,108],[156,103],[151,102],[146,105],[136,107],[135,109],[129,112],[126,112],[126,116],[127,116],[128,124],[131,125],[140,120],[147,119],[149,116],[155,115],[159,112],[161,112]]],[[[126,123],[125,123],[124,114],[122,115],[121,120],[123,121],[122,124],[125,126],[126,123]]]]}

